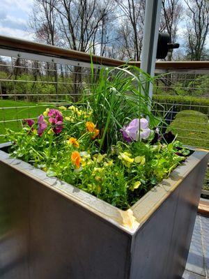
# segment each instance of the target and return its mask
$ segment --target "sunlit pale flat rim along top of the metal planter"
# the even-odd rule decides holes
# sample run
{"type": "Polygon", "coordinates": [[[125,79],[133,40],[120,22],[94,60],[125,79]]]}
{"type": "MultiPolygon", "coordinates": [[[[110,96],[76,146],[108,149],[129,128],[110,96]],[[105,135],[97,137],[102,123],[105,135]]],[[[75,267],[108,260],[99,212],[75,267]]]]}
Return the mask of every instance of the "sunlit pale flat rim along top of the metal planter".
{"type": "Polygon", "coordinates": [[[114,227],[120,230],[122,229],[126,234],[130,234],[130,236],[135,234],[146,220],[160,208],[162,203],[173,193],[187,174],[189,174],[203,158],[206,156],[209,157],[209,153],[206,149],[193,149],[194,153],[185,160],[185,163],[176,167],[176,169],[171,172],[168,179],[163,179],[161,183],[158,183],[148,191],[148,193],[141,197],[130,209],[123,211],[56,177],[48,177],[46,172],[33,167],[33,165],[29,163],[11,157],[8,153],[2,151],[2,149],[8,146],[10,146],[10,142],[0,144],[0,163],[10,165],[10,167],[13,167],[13,169],[16,169],[18,172],[30,176],[31,179],[38,181],[40,185],[59,193],[66,199],[70,199],[75,205],[88,210],[98,216],[98,218],[106,220],[114,225],[114,227]]]}

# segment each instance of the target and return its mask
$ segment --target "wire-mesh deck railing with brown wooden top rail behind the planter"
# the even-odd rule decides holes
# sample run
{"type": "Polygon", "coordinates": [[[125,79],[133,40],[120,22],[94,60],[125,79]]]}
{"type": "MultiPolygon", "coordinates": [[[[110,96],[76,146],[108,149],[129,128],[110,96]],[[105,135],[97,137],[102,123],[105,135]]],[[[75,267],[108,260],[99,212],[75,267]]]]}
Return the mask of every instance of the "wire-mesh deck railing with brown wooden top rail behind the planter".
{"type": "MultiPolygon", "coordinates": [[[[0,135],[4,128],[18,130],[22,118],[35,119],[49,104],[78,100],[91,85],[91,61],[94,68],[125,63],[0,36],[0,135]]],[[[164,115],[167,130],[183,143],[209,149],[209,61],[157,61],[155,75],[153,113],[164,115]]],[[[205,183],[209,190],[209,177],[205,183]]]]}

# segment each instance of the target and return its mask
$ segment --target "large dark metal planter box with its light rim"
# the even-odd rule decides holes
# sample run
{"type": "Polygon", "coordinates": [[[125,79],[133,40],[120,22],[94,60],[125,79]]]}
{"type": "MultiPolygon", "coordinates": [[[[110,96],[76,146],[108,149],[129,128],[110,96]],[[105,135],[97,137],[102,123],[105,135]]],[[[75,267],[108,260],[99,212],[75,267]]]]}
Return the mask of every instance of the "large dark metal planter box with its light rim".
{"type": "Polygon", "coordinates": [[[181,278],[208,153],[121,211],[0,145],[1,279],[181,278]],[[133,222],[134,221],[134,222],[133,222]]]}

